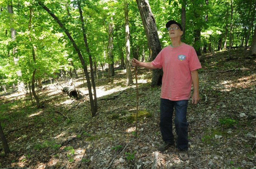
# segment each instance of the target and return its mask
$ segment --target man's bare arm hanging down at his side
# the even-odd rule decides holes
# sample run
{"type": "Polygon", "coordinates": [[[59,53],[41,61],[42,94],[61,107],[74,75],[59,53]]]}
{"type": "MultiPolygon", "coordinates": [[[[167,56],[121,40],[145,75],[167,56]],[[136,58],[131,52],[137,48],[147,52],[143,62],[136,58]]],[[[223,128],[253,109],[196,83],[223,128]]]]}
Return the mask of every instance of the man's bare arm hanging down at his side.
{"type": "Polygon", "coordinates": [[[197,104],[198,101],[200,100],[198,71],[193,70],[190,73],[191,73],[192,83],[193,83],[193,87],[194,87],[194,93],[192,96],[192,104],[197,104]]]}

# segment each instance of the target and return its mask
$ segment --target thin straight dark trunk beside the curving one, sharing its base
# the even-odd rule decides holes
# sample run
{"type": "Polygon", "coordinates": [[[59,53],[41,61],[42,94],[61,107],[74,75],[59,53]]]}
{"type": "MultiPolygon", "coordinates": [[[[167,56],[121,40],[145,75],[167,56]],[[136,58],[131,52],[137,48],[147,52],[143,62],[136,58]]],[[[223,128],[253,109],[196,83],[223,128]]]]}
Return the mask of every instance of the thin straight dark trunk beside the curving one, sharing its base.
{"type": "Polygon", "coordinates": [[[98,103],[97,103],[97,95],[96,95],[96,86],[95,86],[95,81],[94,81],[94,74],[93,74],[93,69],[92,69],[92,66],[93,66],[92,65],[92,54],[90,53],[90,49],[89,49],[89,46],[88,46],[88,43],[87,43],[87,38],[86,38],[85,30],[84,30],[84,17],[83,17],[83,13],[82,13],[82,9],[81,9],[79,0],[77,1],[77,5],[78,5],[79,13],[80,13],[80,19],[81,19],[82,30],[83,30],[83,35],[84,35],[84,44],[85,44],[86,51],[89,55],[90,71],[91,71],[91,79],[92,79],[92,88],[93,88],[93,95],[94,95],[94,109],[95,109],[95,112],[97,112],[98,111],[98,103]]]}

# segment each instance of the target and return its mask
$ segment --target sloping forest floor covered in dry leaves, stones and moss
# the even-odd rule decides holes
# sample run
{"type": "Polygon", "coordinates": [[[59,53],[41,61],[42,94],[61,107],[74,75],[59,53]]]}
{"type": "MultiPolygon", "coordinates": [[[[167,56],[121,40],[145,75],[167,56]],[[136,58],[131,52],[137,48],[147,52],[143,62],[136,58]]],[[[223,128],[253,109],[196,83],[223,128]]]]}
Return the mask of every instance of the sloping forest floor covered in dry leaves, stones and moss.
{"type": "MultiPolygon", "coordinates": [[[[29,94],[1,95],[0,122],[12,152],[0,152],[0,168],[142,169],[151,168],[156,153],[157,168],[256,168],[256,58],[244,49],[231,56],[223,51],[199,58],[201,100],[189,101],[187,115],[189,160],[181,161],[176,148],[158,151],[161,87],[150,86],[151,70],[138,68],[138,137],[136,85],[126,87],[123,70],[110,82],[98,72],[94,117],[81,74],[74,82],[84,100],[70,98],[57,83],[38,91],[43,109],[29,94]]],[[[68,85],[66,78],[58,81],[68,85]]]]}

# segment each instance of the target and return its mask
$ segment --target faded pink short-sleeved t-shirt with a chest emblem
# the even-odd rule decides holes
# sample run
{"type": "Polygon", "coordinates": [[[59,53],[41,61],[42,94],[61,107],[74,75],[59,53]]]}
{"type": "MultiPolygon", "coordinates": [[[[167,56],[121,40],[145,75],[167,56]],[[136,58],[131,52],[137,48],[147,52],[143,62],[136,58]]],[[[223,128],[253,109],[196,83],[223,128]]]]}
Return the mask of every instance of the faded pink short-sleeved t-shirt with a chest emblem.
{"type": "Polygon", "coordinates": [[[166,46],[151,63],[159,69],[163,67],[161,98],[189,100],[192,85],[190,72],[201,68],[192,46],[185,43],[178,47],[166,46]]]}

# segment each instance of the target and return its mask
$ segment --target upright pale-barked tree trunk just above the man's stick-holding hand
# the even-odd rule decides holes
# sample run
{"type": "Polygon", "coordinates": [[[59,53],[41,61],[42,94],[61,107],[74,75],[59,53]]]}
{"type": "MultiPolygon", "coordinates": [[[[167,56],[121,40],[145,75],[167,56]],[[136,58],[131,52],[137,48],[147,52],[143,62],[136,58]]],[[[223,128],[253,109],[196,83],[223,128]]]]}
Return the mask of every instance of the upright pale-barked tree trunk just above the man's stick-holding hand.
{"type": "Polygon", "coordinates": [[[125,26],[125,67],[126,67],[126,86],[132,85],[132,70],[130,63],[130,30],[128,17],[128,2],[124,2],[124,26],[125,26]]]}

